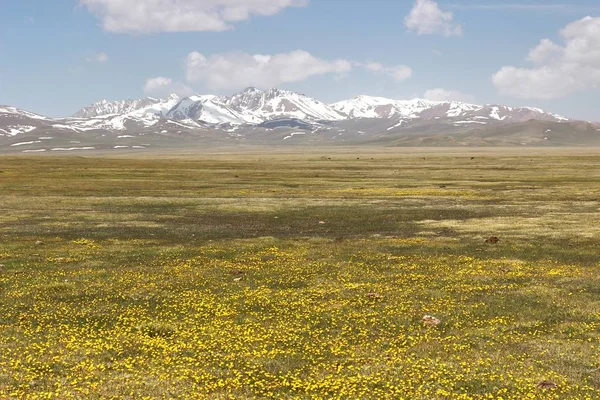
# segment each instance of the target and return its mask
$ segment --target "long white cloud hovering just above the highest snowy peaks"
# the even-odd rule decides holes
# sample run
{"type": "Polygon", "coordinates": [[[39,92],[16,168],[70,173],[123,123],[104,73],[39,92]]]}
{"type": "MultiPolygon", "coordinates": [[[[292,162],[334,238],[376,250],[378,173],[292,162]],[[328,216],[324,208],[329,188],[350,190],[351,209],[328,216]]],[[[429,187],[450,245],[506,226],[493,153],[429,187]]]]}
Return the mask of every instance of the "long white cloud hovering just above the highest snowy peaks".
{"type": "Polygon", "coordinates": [[[262,88],[300,82],[312,76],[344,74],[352,69],[347,60],[327,61],[303,50],[274,55],[221,53],[205,56],[188,54],[185,73],[188,82],[203,82],[211,90],[262,88]]]}

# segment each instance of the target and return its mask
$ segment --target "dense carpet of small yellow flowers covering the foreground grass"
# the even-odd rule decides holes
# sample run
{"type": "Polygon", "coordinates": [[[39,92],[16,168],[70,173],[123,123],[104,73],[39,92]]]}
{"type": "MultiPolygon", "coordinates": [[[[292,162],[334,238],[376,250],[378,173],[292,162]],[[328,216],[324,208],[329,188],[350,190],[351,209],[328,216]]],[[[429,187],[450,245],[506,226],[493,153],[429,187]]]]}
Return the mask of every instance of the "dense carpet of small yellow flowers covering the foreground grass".
{"type": "Polygon", "coordinates": [[[600,315],[552,324],[536,308],[576,313],[557,282],[590,271],[395,244],[423,240],[14,266],[0,280],[0,398],[600,398],[600,315]],[[441,322],[424,326],[429,314],[441,322]],[[587,376],[569,372],[579,357],[591,357],[587,376]]]}

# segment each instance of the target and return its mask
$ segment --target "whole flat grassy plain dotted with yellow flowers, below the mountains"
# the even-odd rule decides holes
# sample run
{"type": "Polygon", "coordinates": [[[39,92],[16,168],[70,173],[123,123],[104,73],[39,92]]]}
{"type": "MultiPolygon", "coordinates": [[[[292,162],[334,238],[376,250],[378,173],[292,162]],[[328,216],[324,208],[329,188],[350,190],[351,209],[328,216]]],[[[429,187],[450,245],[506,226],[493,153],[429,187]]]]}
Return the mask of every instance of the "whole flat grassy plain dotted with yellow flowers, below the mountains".
{"type": "Polygon", "coordinates": [[[600,155],[473,154],[0,158],[0,398],[600,398],[600,155]]]}

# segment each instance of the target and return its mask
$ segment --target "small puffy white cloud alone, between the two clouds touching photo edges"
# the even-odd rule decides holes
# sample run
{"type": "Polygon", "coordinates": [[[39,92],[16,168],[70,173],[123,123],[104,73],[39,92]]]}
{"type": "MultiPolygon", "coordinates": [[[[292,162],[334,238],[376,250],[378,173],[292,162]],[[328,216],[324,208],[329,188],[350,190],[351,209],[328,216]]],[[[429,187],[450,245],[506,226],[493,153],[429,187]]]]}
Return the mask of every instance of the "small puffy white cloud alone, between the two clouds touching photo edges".
{"type": "Polygon", "coordinates": [[[417,0],[404,18],[404,25],[419,35],[462,35],[462,27],[454,23],[453,14],[442,11],[433,0],[417,0]]]}

